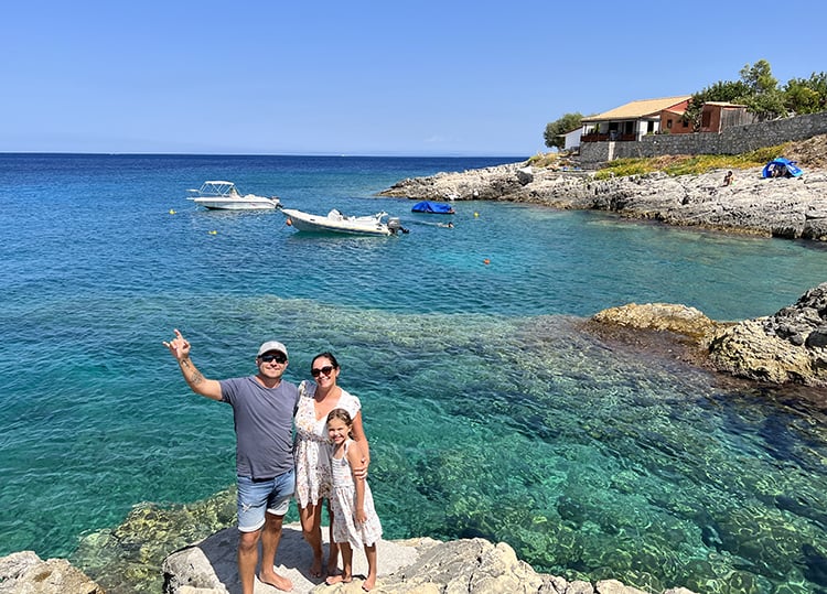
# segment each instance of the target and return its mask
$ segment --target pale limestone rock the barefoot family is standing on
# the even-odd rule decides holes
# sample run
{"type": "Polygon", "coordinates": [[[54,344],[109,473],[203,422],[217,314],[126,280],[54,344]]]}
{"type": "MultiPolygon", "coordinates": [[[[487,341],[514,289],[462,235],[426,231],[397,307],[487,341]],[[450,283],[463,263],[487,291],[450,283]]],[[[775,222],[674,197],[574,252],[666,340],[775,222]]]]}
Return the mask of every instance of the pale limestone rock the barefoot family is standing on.
{"type": "MultiPolygon", "coordinates": [[[[168,594],[225,594],[237,590],[235,568],[237,530],[228,529],[206,541],[171,554],[163,565],[168,594]]],[[[539,574],[517,559],[508,544],[475,538],[440,542],[429,538],[380,541],[376,594],[643,594],[615,580],[591,584],[567,582],[563,577],[539,574]]],[[[297,594],[358,594],[367,565],[364,554],[354,554],[354,580],[327,586],[321,579],[304,574],[310,565],[310,549],[299,527],[282,534],[276,571],[293,582],[297,594]],[[283,557],[282,557],[283,554],[283,557]]],[[[273,588],[256,581],[256,593],[273,588]]],[[[673,594],[692,594],[688,590],[673,594]]]]}

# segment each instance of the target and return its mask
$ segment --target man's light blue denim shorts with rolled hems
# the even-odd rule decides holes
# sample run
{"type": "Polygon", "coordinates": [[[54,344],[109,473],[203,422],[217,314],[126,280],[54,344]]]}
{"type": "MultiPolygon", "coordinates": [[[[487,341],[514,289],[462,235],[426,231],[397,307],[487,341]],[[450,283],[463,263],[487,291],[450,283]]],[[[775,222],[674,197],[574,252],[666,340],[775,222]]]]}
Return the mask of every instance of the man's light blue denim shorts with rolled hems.
{"type": "Polygon", "coordinates": [[[296,492],[296,472],[273,478],[238,477],[238,530],[255,532],[265,525],[265,512],[283,516],[296,492]]]}

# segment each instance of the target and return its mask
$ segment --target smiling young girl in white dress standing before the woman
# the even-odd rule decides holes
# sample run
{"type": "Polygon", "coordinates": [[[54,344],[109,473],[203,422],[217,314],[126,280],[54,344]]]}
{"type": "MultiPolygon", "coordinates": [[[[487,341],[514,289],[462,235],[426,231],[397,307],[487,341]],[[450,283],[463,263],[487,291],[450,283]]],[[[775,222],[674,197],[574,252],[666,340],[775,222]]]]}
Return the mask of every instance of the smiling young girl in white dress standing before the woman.
{"type": "Polygon", "coordinates": [[[367,480],[354,477],[352,466],[361,466],[362,447],[353,441],[353,419],[344,409],[327,414],[327,434],[333,442],[331,469],[333,473],[333,541],[342,550],[342,575],[327,577],[329,585],[353,580],[353,547],[364,547],[367,557],[365,591],[376,585],[376,543],[382,537],[382,523],[374,510],[374,498],[367,480]]]}

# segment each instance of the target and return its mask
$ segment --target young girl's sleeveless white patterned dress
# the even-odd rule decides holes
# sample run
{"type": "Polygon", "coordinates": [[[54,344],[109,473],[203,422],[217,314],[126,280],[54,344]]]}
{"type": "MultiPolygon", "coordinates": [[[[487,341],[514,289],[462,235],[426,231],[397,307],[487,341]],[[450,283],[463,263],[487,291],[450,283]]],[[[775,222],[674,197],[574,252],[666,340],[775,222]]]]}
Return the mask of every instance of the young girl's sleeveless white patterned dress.
{"type": "Polygon", "coordinates": [[[356,487],[353,484],[353,472],[347,461],[347,447],[353,440],[345,441],[344,455],[341,458],[331,457],[333,471],[333,493],[331,494],[331,506],[333,507],[333,541],[350,542],[354,549],[361,549],[364,544],[370,547],[382,538],[382,523],[374,509],[374,497],[370,487],[365,480],[365,516],[364,523],[356,521],[356,487]]]}

